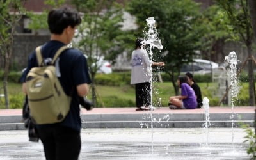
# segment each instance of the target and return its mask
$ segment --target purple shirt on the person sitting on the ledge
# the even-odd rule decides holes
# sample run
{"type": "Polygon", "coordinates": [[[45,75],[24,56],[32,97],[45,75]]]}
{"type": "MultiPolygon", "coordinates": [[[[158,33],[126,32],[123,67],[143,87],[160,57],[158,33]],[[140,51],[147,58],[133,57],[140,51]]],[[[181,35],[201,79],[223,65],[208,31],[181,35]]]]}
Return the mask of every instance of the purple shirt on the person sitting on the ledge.
{"type": "Polygon", "coordinates": [[[187,109],[195,109],[196,108],[196,106],[197,106],[196,95],[195,95],[193,88],[191,88],[191,86],[189,86],[189,84],[187,84],[187,83],[181,84],[181,95],[187,97],[186,99],[182,99],[183,105],[185,108],[187,108],[187,109]]]}

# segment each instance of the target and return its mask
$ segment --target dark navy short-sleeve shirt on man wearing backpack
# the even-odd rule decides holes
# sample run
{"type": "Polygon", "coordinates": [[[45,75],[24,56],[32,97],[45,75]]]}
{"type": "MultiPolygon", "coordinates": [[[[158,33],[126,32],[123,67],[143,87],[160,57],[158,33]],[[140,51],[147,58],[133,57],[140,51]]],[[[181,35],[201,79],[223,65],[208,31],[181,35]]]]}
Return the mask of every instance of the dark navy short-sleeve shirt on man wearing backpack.
{"type": "MultiPolygon", "coordinates": [[[[54,54],[63,44],[60,41],[51,40],[42,45],[42,56],[43,58],[53,58],[54,54]]],[[[79,108],[79,96],[77,95],[76,86],[79,84],[90,84],[91,79],[88,74],[88,66],[85,56],[82,52],[77,49],[66,49],[59,57],[60,65],[60,83],[63,87],[64,92],[72,97],[70,104],[70,111],[66,116],[65,120],[56,124],[48,125],[63,125],[70,127],[76,131],[81,130],[81,118],[79,108]]],[[[28,67],[22,74],[21,81],[25,82],[26,75],[29,70],[33,67],[38,66],[35,51],[29,56],[28,67]]],[[[45,125],[37,125],[37,127],[44,127],[45,125]]]]}

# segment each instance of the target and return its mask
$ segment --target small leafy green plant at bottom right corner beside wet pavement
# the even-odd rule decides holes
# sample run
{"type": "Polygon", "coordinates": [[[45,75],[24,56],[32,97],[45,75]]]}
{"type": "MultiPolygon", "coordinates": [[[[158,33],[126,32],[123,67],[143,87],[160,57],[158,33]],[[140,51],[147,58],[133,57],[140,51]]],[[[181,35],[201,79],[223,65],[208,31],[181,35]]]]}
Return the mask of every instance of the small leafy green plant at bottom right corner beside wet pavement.
{"type": "Polygon", "coordinates": [[[251,156],[252,159],[256,159],[256,134],[252,128],[245,128],[246,136],[244,137],[246,140],[244,143],[249,143],[249,147],[247,148],[247,154],[251,156]]]}

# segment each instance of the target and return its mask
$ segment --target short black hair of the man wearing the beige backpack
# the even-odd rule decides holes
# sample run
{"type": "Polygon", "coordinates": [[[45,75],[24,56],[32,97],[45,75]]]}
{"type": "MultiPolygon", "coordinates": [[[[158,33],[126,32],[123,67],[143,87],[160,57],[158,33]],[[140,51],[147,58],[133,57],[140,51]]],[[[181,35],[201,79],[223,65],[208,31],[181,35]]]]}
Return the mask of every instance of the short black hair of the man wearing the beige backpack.
{"type": "Polygon", "coordinates": [[[68,7],[53,9],[48,14],[48,26],[51,33],[61,35],[68,26],[74,28],[81,23],[81,17],[76,10],[68,7]]]}

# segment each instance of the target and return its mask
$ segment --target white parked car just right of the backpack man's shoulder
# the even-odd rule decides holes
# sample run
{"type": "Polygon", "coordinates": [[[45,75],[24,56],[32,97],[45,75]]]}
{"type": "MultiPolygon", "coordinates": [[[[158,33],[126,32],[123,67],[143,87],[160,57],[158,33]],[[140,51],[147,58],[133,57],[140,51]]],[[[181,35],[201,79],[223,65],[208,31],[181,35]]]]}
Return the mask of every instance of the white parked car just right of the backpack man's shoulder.
{"type": "MultiPolygon", "coordinates": [[[[87,58],[85,54],[84,56],[87,58]]],[[[109,61],[104,60],[103,56],[100,56],[99,58],[95,58],[95,59],[97,59],[97,66],[99,66],[97,73],[102,73],[102,74],[112,73],[111,63],[109,63],[109,61]]]]}

